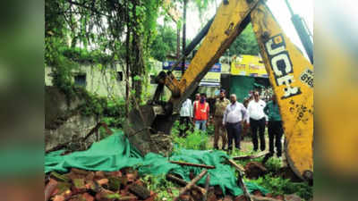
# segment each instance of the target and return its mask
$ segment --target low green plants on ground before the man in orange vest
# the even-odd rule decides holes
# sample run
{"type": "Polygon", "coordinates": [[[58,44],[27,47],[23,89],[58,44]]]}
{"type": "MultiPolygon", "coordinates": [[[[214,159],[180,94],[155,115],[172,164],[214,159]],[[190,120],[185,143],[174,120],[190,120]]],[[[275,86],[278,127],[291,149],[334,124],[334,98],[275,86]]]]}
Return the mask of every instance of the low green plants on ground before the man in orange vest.
{"type": "Polygon", "coordinates": [[[179,121],[175,121],[172,129],[174,143],[177,148],[194,149],[194,150],[207,150],[209,149],[208,142],[209,136],[207,132],[201,130],[188,130],[186,137],[179,137],[179,121]]]}

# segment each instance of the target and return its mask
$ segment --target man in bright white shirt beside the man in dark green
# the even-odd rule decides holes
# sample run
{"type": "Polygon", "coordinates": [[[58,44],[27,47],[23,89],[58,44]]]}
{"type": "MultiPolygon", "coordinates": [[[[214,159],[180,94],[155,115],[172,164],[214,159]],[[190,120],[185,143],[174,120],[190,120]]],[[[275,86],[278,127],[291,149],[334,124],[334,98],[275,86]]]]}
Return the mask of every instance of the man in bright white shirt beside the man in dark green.
{"type": "Polygon", "coordinates": [[[265,150],[265,125],[266,125],[266,114],[263,112],[265,108],[265,101],[260,99],[259,92],[255,91],[253,94],[253,100],[247,105],[248,112],[248,123],[251,127],[252,144],[253,150],[257,151],[259,148],[259,141],[257,131],[259,130],[260,135],[260,150],[265,150]]]}

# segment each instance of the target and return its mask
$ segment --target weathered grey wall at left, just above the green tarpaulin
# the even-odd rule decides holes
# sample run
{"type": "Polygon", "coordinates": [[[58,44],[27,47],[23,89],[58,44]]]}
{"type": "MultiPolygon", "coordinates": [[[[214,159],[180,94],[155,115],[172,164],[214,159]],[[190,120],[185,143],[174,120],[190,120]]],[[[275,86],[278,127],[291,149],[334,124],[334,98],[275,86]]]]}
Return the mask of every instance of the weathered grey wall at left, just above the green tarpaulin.
{"type": "Polygon", "coordinates": [[[65,145],[69,149],[88,148],[95,141],[92,135],[84,138],[98,123],[96,116],[83,116],[78,106],[83,104],[79,96],[71,101],[58,88],[45,87],[45,149],[65,145]]]}

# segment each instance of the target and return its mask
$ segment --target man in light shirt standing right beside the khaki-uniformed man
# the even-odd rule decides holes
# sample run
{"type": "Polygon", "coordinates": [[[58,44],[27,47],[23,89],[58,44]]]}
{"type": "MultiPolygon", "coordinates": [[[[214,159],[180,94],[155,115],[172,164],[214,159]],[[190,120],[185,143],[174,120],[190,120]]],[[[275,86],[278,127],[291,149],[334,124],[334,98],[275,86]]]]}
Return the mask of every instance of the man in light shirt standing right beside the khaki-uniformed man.
{"type": "Polygon", "coordinates": [[[223,117],[223,125],[227,130],[229,152],[233,149],[233,138],[235,147],[240,150],[242,123],[247,119],[246,108],[236,101],[236,95],[232,94],[230,96],[230,102],[231,104],[226,106],[223,117]]]}

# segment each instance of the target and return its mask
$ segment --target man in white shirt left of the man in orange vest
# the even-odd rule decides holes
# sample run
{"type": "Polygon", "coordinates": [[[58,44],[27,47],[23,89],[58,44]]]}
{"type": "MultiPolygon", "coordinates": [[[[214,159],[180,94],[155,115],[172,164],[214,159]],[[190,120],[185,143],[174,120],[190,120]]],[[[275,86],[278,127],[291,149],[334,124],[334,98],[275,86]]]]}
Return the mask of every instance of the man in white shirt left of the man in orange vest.
{"type": "Polygon", "coordinates": [[[192,100],[187,98],[180,109],[179,135],[183,136],[189,130],[189,123],[192,119],[192,100]]]}

